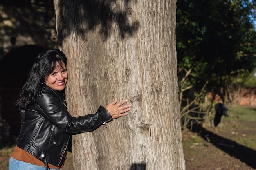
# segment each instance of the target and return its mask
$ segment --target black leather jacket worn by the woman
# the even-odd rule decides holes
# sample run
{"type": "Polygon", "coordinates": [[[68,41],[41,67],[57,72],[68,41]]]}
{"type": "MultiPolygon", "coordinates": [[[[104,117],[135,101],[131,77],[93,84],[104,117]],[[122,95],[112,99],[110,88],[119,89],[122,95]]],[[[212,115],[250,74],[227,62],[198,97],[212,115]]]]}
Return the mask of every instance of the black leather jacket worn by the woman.
{"type": "Polygon", "coordinates": [[[65,93],[41,88],[38,103],[29,109],[20,106],[23,117],[17,146],[29,152],[47,165],[60,166],[69,145],[71,152],[72,134],[90,132],[112,121],[108,110],[100,106],[95,114],[72,117],[67,111],[65,93]]]}

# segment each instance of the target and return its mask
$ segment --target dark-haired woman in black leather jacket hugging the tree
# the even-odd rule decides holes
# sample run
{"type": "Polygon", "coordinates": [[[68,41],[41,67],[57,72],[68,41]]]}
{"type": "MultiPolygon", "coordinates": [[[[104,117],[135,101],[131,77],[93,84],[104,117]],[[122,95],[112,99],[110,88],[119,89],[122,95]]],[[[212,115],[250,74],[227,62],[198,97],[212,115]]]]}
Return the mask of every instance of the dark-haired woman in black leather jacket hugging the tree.
{"type": "Polygon", "coordinates": [[[66,65],[59,50],[47,50],[36,58],[16,101],[23,122],[9,170],[60,170],[71,152],[72,134],[93,131],[131,109],[132,105],[124,105],[128,100],[115,99],[95,114],[72,117],[65,101],[66,65]]]}

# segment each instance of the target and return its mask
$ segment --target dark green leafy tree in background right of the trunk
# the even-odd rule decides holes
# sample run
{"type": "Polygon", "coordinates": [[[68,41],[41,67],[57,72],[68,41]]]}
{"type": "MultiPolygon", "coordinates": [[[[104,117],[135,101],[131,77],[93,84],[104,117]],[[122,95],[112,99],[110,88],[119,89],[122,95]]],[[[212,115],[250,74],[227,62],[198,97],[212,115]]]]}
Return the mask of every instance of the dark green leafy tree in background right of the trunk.
{"type": "Polygon", "coordinates": [[[177,1],[178,79],[183,115],[198,109],[209,89],[223,89],[224,100],[225,92],[233,91],[228,87],[235,83],[234,79],[255,68],[255,3],[177,1]]]}

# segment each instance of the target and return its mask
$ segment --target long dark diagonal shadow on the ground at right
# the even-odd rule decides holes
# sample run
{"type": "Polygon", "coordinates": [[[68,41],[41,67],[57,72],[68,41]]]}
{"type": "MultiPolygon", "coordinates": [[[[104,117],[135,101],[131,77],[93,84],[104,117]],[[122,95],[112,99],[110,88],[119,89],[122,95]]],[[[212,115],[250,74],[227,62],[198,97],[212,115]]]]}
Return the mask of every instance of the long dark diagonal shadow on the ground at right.
{"type": "Polygon", "coordinates": [[[239,159],[248,166],[256,169],[256,151],[236,143],[230,139],[218,136],[204,128],[200,129],[200,136],[207,142],[212,143],[220,150],[226,152],[232,157],[239,159]]]}

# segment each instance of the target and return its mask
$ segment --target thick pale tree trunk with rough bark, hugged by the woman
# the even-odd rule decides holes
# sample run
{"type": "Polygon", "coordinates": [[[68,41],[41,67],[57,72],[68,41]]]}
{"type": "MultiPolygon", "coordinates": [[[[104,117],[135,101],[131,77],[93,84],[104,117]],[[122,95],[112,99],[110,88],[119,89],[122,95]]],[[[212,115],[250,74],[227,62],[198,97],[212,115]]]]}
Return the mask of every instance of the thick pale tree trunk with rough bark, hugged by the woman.
{"type": "Polygon", "coordinates": [[[128,116],[73,136],[75,170],[185,170],[175,0],[54,0],[71,114],[114,98],[128,116]]]}

